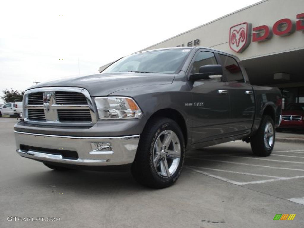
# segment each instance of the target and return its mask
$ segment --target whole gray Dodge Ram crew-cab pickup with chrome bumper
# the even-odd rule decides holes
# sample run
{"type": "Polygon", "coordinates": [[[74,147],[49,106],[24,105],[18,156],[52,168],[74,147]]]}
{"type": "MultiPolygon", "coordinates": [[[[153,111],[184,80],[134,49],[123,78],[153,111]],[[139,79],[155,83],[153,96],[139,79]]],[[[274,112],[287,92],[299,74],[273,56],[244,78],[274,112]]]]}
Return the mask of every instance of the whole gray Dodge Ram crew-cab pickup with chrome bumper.
{"type": "Polygon", "coordinates": [[[31,87],[23,101],[22,157],[59,171],[128,166],[154,188],[178,179],[186,150],[241,139],[270,155],[282,110],[278,88],[251,86],[237,57],[204,47],[131,54],[31,87]]]}

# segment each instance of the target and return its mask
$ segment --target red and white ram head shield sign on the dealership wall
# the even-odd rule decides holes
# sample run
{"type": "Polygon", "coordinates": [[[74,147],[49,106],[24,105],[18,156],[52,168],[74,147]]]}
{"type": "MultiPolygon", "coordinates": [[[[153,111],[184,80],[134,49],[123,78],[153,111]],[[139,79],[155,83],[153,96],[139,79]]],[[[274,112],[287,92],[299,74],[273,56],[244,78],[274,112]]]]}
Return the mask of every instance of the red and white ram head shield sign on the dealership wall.
{"type": "Polygon", "coordinates": [[[242,53],[250,44],[251,41],[251,24],[243,22],[232,26],[229,32],[229,45],[230,48],[237,52],[242,53]]]}

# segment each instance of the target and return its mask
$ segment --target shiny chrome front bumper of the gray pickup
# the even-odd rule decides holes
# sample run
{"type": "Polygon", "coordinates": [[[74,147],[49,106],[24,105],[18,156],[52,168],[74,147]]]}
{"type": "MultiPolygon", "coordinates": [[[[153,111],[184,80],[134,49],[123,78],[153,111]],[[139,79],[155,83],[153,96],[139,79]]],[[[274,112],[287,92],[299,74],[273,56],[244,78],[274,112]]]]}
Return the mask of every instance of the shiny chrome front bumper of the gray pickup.
{"type": "Polygon", "coordinates": [[[104,166],[123,165],[134,161],[140,135],[122,137],[79,137],[44,135],[15,131],[17,153],[42,162],[61,164],[104,166]],[[94,150],[94,143],[108,143],[108,150],[94,150]],[[78,159],[68,159],[62,155],[41,150],[22,150],[20,145],[52,150],[76,151],[78,159]]]}

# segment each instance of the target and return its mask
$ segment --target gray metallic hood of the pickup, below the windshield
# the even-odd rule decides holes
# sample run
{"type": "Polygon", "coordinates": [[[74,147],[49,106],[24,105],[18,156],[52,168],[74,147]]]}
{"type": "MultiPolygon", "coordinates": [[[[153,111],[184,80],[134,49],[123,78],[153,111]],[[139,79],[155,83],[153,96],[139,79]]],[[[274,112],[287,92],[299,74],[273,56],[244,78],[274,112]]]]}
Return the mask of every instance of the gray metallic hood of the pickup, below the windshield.
{"type": "Polygon", "coordinates": [[[80,87],[89,91],[91,96],[107,96],[113,92],[146,85],[171,84],[174,74],[143,74],[143,73],[101,73],[84,77],[49,81],[32,86],[41,87],[67,86],[80,87]]]}

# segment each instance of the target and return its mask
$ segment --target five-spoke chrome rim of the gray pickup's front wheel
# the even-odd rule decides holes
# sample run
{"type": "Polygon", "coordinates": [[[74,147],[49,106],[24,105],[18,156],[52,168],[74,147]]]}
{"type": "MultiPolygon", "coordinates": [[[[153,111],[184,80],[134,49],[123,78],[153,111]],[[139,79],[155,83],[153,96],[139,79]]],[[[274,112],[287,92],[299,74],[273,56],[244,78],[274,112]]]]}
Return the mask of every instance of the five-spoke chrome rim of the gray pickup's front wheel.
{"type": "Polygon", "coordinates": [[[170,177],[178,168],[181,159],[181,143],[178,136],[171,130],[164,130],[154,143],[153,163],[157,174],[170,177]]]}

